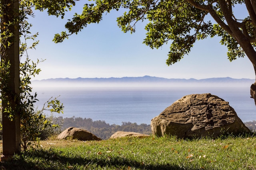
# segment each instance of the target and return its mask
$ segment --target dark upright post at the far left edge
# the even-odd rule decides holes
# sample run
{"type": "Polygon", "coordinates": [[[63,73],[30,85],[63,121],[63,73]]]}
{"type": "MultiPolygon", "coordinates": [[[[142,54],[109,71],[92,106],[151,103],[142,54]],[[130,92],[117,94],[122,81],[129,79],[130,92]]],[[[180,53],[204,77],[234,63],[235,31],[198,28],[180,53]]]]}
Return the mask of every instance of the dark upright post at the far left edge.
{"type": "MultiPolygon", "coordinates": [[[[19,86],[20,86],[20,57],[19,57],[19,0],[1,0],[2,17],[1,33],[12,33],[1,46],[2,65],[10,62],[8,77],[2,75],[2,83],[7,87],[2,90],[2,125],[3,125],[3,159],[8,159],[14,153],[20,152],[20,113],[19,113],[19,86]],[[14,23],[7,27],[6,23],[14,23]],[[6,28],[7,27],[7,28],[6,28]],[[8,30],[7,30],[8,29],[8,30]],[[8,45],[10,44],[10,45],[8,45]],[[6,47],[4,47],[6,46],[6,47]],[[6,81],[3,81],[7,78],[6,81]],[[4,110],[11,107],[13,119],[10,113],[4,110]]],[[[4,39],[4,35],[1,37],[4,39]]]]}

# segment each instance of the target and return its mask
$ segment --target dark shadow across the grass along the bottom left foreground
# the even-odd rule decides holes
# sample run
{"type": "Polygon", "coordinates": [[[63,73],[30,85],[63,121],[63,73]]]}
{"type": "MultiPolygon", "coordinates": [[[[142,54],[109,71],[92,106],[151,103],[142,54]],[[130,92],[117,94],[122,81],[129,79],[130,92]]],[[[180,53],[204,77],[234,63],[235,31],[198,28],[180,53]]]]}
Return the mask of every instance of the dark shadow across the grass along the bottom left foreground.
{"type": "Polygon", "coordinates": [[[60,156],[56,150],[34,150],[14,156],[13,160],[0,162],[6,170],[78,170],[78,169],[138,169],[138,170],[199,170],[182,168],[171,164],[144,164],[123,157],[82,158],[79,156],[60,156]]]}

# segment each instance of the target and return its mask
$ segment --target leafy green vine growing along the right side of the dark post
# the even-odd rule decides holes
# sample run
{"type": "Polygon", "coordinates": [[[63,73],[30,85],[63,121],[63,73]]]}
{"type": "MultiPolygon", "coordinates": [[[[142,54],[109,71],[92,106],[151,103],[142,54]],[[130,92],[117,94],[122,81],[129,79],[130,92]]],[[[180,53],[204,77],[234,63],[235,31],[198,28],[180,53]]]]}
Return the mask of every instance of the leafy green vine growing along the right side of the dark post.
{"type": "MultiPolygon", "coordinates": [[[[27,6],[25,6],[27,7],[27,6]]],[[[23,38],[24,42],[20,43],[20,57],[26,57],[24,63],[20,63],[20,128],[21,128],[21,145],[24,150],[31,145],[31,141],[38,141],[42,132],[48,129],[54,129],[49,119],[46,118],[46,115],[43,111],[50,111],[60,113],[63,110],[62,104],[56,98],[54,100],[48,100],[41,110],[35,110],[34,104],[37,101],[35,93],[32,95],[31,77],[34,77],[36,74],[39,74],[41,71],[37,69],[36,66],[41,61],[33,62],[28,57],[28,49],[35,49],[38,41],[32,43],[31,46],[28,46],[27,41],[34,41],[38,33],[31,35],[29,29],[32,26],[26,21],[27,15],[32,15],[30,10],[24,14],[24,19],[20,23],[20,37],[23,38]]],[[[51,132],[52,133],[52,132],[51,132]]],[[[50,134],[51,134],[50,133],[50,134]]],[[[44,135],[44,138],[47,137],[44,135]]]]}

